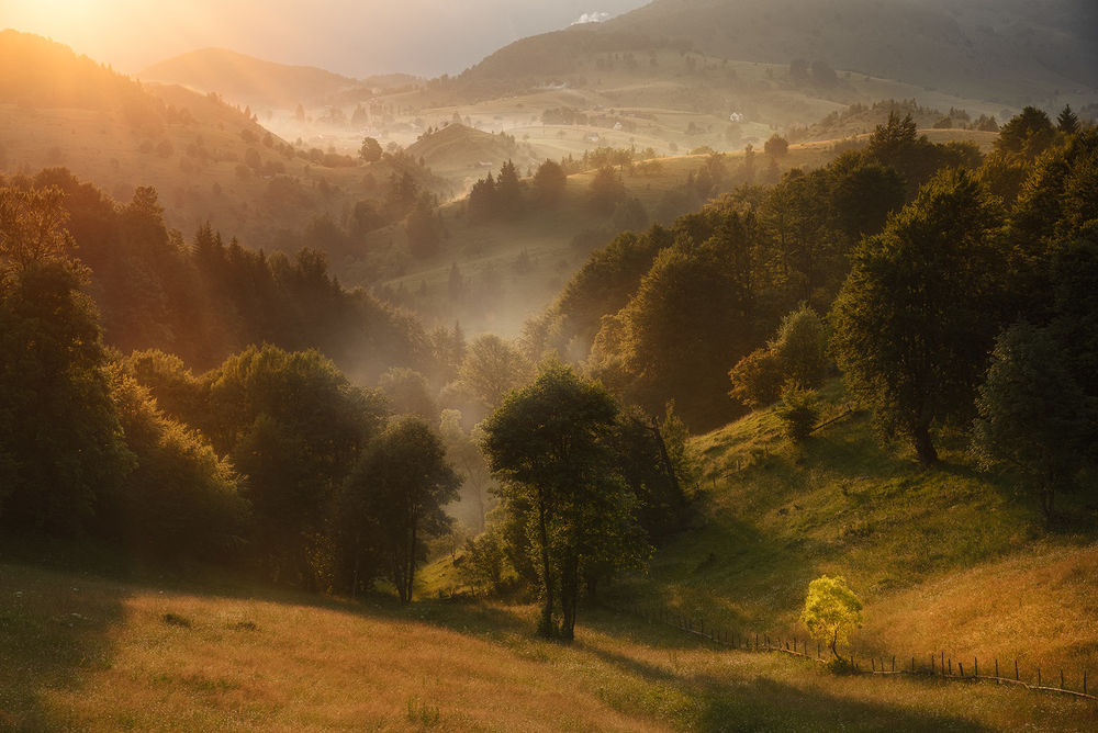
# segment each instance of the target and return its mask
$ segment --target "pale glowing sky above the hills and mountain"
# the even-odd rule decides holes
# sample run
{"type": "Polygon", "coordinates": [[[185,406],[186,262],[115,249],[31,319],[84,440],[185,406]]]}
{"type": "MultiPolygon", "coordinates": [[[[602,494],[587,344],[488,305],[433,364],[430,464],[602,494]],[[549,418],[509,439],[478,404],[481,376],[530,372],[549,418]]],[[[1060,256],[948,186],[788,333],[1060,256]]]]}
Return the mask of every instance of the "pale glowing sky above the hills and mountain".
{"type": "Polygon", "coordinates": [[[0,0],[0,29],[116,70],[222,47],[350,77],[458,74],[512,41],[649,0],[0,0]]]}

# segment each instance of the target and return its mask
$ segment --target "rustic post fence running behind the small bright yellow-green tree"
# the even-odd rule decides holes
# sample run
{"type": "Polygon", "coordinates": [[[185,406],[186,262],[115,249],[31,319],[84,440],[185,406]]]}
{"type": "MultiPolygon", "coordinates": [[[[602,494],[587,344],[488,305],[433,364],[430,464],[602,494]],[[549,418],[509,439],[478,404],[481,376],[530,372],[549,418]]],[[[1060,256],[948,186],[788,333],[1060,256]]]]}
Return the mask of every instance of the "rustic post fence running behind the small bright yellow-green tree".
{"type": "MultiPolygon", "coordinates": [[[[647,623],[661,623],[665,625],[673,627],[681,631],[685,631],[694,636],[699,636],[709,641],[710,643],[717,644],[719,646],[726,646],[730,649],[736,649],[747,652],[778,652],[781,654],[787,654],[789,656],[797,656],[819,664],[828,664],[828,659],[824,658],[822,645],[816,643],[816,655],[813,656],[809,653],[808,640],[802,640],[798,636],[793,636],[792,639],[783,639],[782,636],[776,636],[771,639],[768,634],[754,633],[753,635],[742,634],[739,632],[728,633],[727,630],[721,630],[715,627],[706,627],[705,619],[698,619],[695,621],[688,616],[681,616],[677,613],[672,613],[669,611],[660,610],[657,613],[643,612],[638,607],[634,606],[629,609],[623,609],[614,606],[608,606],[610,610],[617,611],[618,613],[630,613],[632,616],[639,617],[647,623]],[[776,642],[776,644],[774,643],[776,642]],[[793,644],[793,649],[789,649],[789,644],[793,644]],[[800,651],[804,650],[804,651],[800,651]]],[[[1015,659],[1015,677],[1002,677],[999,674],[999,661],[994,659],[995,674],[994,675],[982,675],[979,674],[979,658],[973,657],[973,666],[971,667],[972,674],[964,673],[964,663],[957,659],[957,674],[953,674],[953,658],[946,657],[944,652],[941,652],[938,662],[935,664],[935,656],[930,655],[930,667],[929,669],[916,662],[916,657],[911,657],[910,668],[901,664],[900,668],[896,668],[896,657],[890,657],[890,664],[885,664],[885,657],[871,656],[870,657],[870,669],[862,669],[859,667],[858,658],[854,656],[854,652],[851,651],[851,667],[854,674],[859,675],[874,675],[874,676],[895,676],[895,675],[907,675],[915,677],[931,677],[934,679],[944,679],[951,681],[989,681],[999,685],[1015,685],[1016,687],[1022,687],[1028,690],[1033,690],[1035,692],[1052,692],[1056,695],[1065,695],[1075,698],[1083,698],[1086,700],[1098,701],[1098,696],[1090,695],[1087,691],[1087,670],[1083,670],[1083,690],[1069,689],[1066,686],[1064,678],[1064,670],[1060,669],[1060,687],[1050,687],[1043,684],[1041,678],[1041,667],[1037,668],[1037,684],[1030,684],[1021,679],[1019,674],[1018,659],[1015,659]],[[879,667],[878,667],[879,663],[879,667]],[[889,667],[886,669],[886,666],[889,667]]],[[[864,661],[863,661],[864,663],[864,661]]],[[[903,663],[903,659],[901,659],[903,663]]]]}

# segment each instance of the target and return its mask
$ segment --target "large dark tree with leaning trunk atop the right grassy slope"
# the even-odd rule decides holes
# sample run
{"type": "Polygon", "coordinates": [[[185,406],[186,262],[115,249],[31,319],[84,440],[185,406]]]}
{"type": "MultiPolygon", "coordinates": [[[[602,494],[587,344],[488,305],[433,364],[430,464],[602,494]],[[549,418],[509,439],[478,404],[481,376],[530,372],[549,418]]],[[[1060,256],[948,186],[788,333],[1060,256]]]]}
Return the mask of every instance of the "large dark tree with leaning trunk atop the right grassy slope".
{"type": "Polygon", "coordinates": [[[862,240],[836,300],[833,346],[848,386],[886,437],[918,460],[938,452],[931,428],[967,417],[1002,309],[998,206],[964,170],[944,171],[862,240]]]}

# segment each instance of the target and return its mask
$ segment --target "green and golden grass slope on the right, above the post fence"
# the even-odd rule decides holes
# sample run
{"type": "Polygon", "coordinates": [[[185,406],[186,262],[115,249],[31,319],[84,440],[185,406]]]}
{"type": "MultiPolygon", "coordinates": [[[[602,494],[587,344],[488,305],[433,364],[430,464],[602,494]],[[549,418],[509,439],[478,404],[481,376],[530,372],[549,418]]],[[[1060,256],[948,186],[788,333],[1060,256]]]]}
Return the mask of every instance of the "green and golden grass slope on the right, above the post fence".
{"type": "MultiPolygon", "coordinates": [[[[825,418],[843,414],[841,385],[824,397],[825,418]]],[[[699,526],[661,548],[624,598],[803,639],[808,583],[842,575],[866,605],[863,658],[944,652],[978,655],[982,669],[1018,658],[1023,674],[1063,668],[1078,688],[1084,668],[1098,670],[1094,508],[1068,499],[1074,526],[1046,530],[960,439],[944,443],[943,463],[921,469],[854,413],[797,447],[769,409],[703,436],[699,526]]]]}

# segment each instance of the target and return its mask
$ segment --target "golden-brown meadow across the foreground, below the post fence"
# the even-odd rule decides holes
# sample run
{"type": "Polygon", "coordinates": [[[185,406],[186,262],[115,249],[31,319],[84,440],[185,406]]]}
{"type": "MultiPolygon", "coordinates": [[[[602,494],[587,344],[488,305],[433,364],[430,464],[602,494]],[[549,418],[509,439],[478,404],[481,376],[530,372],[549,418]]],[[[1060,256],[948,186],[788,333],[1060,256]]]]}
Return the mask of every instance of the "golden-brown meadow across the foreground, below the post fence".
{"type": "Polygon", "coordinates": [[[994,686],[834,677],[586,611],[211,595],[0,565],[0,728],[1086,730],[1094,707],[994,686]]]}

